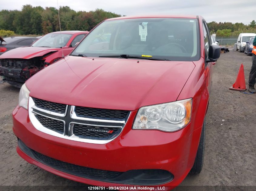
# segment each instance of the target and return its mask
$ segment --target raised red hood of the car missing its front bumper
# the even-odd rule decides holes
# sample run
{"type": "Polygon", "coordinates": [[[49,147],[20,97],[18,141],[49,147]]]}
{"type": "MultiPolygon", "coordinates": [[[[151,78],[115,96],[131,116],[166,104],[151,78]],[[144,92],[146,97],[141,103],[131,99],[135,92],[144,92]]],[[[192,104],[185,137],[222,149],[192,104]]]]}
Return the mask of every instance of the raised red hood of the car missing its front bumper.
{"type": "Polygon", "coordinates": [[[61,48],[26,46],[9,50],[8,52],[2,54],[0,59],[31,59],[37,56],[44,56],[45,54],[59,51],[60,49],[61,48]]]}

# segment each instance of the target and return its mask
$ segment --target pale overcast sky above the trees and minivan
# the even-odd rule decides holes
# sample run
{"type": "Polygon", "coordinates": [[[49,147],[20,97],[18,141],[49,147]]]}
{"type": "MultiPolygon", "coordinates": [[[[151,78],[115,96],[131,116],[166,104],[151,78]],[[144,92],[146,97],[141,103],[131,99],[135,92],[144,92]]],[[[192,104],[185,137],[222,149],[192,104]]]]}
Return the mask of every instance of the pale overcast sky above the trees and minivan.
{"type": "MultiPolygon", "coordinates": [[[[0,10],[21,10],[22,5],[55,7],[57,0],[0,0],[0,10]],[[2,2],[1,2],[2,1],[2,2]]],[[[121,15],[201,15],[207,22],[242,22],[256,20],[256,0],[58,0],[59,6],[75,11],[101,8],[121,15]]]]}

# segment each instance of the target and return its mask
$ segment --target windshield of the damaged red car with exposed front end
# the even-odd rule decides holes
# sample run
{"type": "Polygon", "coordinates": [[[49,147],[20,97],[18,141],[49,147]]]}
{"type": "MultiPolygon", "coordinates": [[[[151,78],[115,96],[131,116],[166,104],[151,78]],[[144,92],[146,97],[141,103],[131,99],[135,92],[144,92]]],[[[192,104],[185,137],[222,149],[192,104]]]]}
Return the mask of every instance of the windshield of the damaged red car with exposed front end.
{"type": "Polygon", "coordinates": [[[71,38],[71,36],[72,34],[47,34],[38,39],[34,44],[32,44],[32,46],[60,48],[68,43],[68,40],[71,38]]]}

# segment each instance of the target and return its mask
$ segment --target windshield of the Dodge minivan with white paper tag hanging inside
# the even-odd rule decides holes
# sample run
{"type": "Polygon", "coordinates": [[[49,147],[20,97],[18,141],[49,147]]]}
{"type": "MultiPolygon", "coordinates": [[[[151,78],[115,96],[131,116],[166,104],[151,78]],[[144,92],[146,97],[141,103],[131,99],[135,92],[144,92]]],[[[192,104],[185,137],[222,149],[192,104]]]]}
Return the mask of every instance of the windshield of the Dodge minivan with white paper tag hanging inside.
{"type": "Polygon", "coordinates": [[[198,21],[186,18],[104,21],[71,53],[88,57],[122,54],[172,61],[198,60],[198,21]]]}

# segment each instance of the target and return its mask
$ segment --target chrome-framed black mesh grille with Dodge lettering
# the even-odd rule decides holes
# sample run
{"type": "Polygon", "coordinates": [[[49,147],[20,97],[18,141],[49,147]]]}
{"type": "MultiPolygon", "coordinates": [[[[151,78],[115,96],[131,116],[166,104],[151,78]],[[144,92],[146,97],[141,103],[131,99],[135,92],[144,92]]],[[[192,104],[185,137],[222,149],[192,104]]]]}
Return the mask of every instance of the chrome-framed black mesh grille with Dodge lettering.
{"type": "Polygon", "coordinates": [[[131,113],[123,110],[76,107],[32,97],[29,97],[28,112],[32,124],[39,131],[69,140],[96,144],[105,144],[116,138],[131,113]]]}

